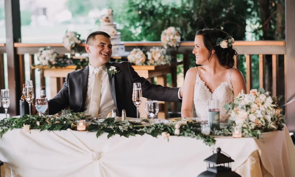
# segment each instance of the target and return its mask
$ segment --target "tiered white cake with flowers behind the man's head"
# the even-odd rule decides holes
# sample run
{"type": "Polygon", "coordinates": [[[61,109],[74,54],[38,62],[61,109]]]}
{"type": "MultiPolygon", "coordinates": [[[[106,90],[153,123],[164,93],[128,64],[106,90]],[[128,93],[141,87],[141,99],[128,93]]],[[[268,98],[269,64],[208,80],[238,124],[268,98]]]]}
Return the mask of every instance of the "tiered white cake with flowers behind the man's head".
{"type": "Polygon", "coordinates": [[[114,23],[112,9],[108,9],[106,13],[100,17],[100,31],[106,32],[111,36],[112,56],[127,56],[129,52],[125,51],[124,43],[121,42],[121,33],[117,31],[117,23],[114,23]]]}

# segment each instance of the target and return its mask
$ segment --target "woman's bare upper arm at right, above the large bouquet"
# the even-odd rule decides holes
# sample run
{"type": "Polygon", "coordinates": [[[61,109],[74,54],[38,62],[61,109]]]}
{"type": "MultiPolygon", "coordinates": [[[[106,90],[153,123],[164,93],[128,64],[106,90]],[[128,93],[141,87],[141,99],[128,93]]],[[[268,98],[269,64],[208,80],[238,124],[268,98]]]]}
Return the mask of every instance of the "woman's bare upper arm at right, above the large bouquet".
{"type": "Polygon", "coordinates": [[[238,94],[241,93],[242,90],[244,91],[244,93],[247,93],[245,79],[241,71],[234,69],[232,71],[231,81],[235,97],[238,96],[238,94]]]}

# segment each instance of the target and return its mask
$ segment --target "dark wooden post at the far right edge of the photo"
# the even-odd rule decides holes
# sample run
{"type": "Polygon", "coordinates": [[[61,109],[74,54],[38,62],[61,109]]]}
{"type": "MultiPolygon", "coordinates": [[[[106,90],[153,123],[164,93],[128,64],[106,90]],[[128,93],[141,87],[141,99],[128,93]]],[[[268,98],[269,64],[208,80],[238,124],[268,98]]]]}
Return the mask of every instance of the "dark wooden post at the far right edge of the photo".
{"type": "MultiPolygon", "coordinates": [[[[286,23],[286,99],[295,97],[295,1],[285,0],[286,23]]],[[[290,132],[295,132],[295,102],[286,106],[286,125],[290,132]]]]}

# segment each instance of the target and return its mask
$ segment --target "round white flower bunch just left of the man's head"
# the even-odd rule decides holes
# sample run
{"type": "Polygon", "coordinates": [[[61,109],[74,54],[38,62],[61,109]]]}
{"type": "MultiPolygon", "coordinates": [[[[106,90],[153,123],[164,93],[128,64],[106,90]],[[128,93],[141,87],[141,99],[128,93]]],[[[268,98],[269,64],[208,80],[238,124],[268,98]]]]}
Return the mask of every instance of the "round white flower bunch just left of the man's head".
{"type": "Polygon", "coordinates": [[[66,31],[65,36],[63,37],[63,46],[67,50],[73,50],[77,52],[78,45],[83,42],[84,40],[80,39],[80,34],[73,31],[66,31]]]}

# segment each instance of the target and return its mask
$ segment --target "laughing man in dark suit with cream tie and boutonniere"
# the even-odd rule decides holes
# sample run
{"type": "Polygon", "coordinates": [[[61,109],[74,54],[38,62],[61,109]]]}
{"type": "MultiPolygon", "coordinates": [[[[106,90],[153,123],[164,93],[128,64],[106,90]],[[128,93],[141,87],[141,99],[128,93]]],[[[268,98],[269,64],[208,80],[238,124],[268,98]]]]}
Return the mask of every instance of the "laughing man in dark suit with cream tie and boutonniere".
{"type": "Polygon", "coordinates": [[[132,101],[133,83],[141,83],[142,97],[167,102],[180,102],[180,88],[151,84],[140,77],[130,62],[109,62],[112,56],[110,36],[102,31],[92,32],[86,40],[85,49],[89,65],[79,71],[68,73],[63,88],[48,101],[49,115],[70,106],[73,112],[105,116],[112,109],[121,116],[125,109],[127,117],[137,117],[132,101]],[[117,71],[113,75],[108,71],[117,71]]]}

